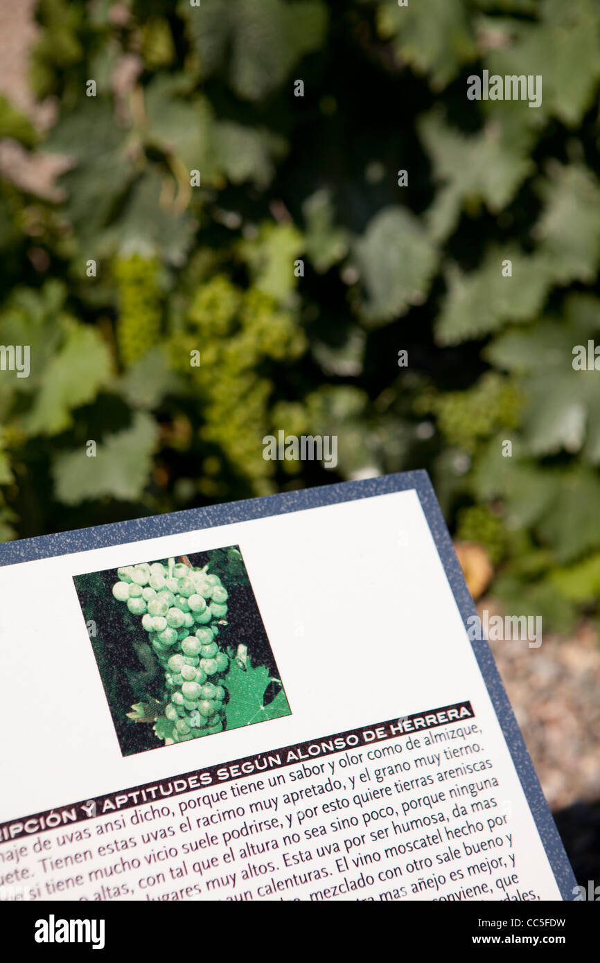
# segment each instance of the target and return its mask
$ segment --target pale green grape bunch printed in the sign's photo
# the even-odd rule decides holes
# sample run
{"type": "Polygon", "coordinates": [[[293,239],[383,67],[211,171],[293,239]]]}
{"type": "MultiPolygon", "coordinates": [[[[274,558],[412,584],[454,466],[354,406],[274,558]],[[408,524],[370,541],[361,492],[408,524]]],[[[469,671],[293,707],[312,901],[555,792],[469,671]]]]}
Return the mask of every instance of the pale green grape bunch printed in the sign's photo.
{"type": "Polygon", "coordinates": [[[165,669],[168,704],[159,738],[166,744],[221,732],[229,658],[219,645],[227,589],[218,575],[183,562],[117,570],[113,595],[142,625],[165,669]],[[169,735],[170,734],[170,735],[169,735]]]}

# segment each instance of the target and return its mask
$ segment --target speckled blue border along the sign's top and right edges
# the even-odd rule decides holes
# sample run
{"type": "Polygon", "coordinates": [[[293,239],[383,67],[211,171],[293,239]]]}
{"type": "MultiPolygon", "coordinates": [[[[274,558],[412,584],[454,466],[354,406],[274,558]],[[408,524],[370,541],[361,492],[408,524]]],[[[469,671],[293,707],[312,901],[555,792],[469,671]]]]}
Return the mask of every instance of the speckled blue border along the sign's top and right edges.
{"type": "MultiPolygon", "coordinates": [[[[254,518],[269,518],[273,515],[283,515],[291,511],[321,508],[341,502],[353,502],[357,499],[373,498],[377,495],[407,490],[415,490],[419,497],[448,582],[457,601],[457,607],[462,616],[466,632],[467,619],[477,615],[477,610],[466,586],[450,533],[426,471],[383,475],[363,481],[342,481],[318,488],[302,488],[298,491],[282,492],[278,495],[267,495],[263,498],[251,498],[243,502],[229,502],[207,508],[191,508],[187,511],[153,515],[132,521],[116,522],[111,525],[99,525],[74,532],[24,538],[0,545],[0,565],[13,565],[36,559],[50,559],[60,555],[69,555],[73,552],[87,552],[94,548],[106,548],[110,545],[120,545],[125,542],[214,528],[218,525],[245,522],[254,518]]],[[[572,900],[577,880],[564,851],[564,846],[562,846],[561,837],[548,803],[541,791],[534,764],[510,707],[509,697],[491,650],[486,640],[471,640],[471,646],[509,745],[512,761],[532,810],[535,825],[561,890],[561,896],[563,899],[572,900]]]]}

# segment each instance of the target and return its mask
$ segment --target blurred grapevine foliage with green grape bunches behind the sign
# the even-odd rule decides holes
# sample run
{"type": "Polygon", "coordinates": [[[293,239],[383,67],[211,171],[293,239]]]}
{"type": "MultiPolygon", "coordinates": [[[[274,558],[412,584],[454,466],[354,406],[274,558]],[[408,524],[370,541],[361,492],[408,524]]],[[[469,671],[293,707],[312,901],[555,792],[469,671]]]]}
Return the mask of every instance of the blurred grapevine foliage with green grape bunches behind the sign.
{"type": "Polygon", "coordinates": [[[0,136],[67,160],[58,193],[0,188],[0,343],[31,346],[0,373],[0,537],[424,467],[511,612],[596,613],[597,0],[37,19],[55,120],[0,98],[0,136]],[[483,68],[541,74],[541,107],[467,100],[483,68]],[[336,470],[264,460],[279,429],[337,434],[336,470]]]}

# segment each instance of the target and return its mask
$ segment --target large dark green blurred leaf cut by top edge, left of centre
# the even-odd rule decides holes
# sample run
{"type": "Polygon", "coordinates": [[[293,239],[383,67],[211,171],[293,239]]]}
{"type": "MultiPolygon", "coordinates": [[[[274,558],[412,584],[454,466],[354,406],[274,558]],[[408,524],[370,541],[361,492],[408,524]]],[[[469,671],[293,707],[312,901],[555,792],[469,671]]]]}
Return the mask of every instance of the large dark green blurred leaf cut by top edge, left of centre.
{"type": "Polygon", "coordinates": [[[321,0],[179,0],[204,77],[226,69],[229,84],[245,100],[262,100],[280,88],[300,59],[318,50],[326,33],[321,0]]]}

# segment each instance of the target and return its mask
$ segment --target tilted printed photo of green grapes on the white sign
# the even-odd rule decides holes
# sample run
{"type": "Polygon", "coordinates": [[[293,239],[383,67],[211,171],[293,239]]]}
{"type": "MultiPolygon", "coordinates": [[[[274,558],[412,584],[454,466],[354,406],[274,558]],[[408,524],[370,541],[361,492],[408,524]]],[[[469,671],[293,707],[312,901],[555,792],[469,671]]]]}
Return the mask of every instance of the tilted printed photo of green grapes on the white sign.
{"type": "Polygon", "coordinates": [[[238,546],[73,581],[123,756],[291,715],[238,546]]]}

